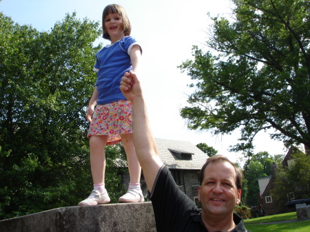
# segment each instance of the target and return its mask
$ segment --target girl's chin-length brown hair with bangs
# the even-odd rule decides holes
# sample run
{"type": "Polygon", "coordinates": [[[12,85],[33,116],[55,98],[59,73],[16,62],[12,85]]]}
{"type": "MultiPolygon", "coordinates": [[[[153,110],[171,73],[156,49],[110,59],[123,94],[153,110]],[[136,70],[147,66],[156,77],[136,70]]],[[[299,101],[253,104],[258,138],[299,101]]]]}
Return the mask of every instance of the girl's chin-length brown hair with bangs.
{"type": "Polygon", "coordinates": [[[107,5],[102,14],[102,29],[103,29],[103,38],[111,40],[110,35],[107,34],[107,30],[105,30],[105,17],[107,17],[108,14],[118,14],[121,22],[122,22],[122,30],[125,34],[125,36],[129,36],[130,32],[132,32],[132,25],[130,24],[130,20],[128,18],[127,12],[125,8],[122,6],[119,6],[117,4],[110,4],[107,5]]]}

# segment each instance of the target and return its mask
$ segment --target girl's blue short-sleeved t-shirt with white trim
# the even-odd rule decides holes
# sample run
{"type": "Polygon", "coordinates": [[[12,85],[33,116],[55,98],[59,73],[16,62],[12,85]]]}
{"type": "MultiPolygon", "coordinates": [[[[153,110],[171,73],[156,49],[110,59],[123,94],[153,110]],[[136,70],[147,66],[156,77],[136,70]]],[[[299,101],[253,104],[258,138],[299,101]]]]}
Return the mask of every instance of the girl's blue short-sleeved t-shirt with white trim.
{"type": "Polygon", "coordinates": [[[124,73],[132,70],[130,50],[136,44],[138,43],[132,36],[125,36],[97,52],[94,65],[94,71],[97,72],[96,87],[99,92],[97,104],[103,105],[126,99],[119,86],[124,73]]]}

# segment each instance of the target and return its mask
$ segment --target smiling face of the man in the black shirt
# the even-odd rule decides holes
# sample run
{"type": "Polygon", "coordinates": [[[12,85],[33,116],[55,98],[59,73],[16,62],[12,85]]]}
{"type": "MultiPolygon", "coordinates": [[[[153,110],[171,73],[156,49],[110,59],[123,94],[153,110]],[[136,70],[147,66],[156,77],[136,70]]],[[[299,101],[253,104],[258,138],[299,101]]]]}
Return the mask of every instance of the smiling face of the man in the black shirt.
{"type": "Polygon", "coordinates": [[[236,187],[236,171],[229,162],[207,165],[203,183],[198,188],[203,216],[232,216],[234,207],[240,203],[241,189],[236,187]]]}

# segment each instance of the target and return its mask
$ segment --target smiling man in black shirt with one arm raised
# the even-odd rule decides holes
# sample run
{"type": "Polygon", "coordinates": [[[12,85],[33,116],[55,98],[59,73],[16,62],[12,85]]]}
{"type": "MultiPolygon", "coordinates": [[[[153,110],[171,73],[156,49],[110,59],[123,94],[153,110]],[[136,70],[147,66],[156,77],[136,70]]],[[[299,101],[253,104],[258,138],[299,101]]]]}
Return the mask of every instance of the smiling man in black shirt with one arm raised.
{"type": "Polygon", "coordinates": [[[132,103],[134,146],[152,200],[157,231],[247,231],[242,219],[234,213],[234,206],[241,198],[240,169],[225,156],[207,159],[200,171],[200,212],[196,204],[178,189],[158,156],[136,74],[126,73],[120,88],[132,103]]]}

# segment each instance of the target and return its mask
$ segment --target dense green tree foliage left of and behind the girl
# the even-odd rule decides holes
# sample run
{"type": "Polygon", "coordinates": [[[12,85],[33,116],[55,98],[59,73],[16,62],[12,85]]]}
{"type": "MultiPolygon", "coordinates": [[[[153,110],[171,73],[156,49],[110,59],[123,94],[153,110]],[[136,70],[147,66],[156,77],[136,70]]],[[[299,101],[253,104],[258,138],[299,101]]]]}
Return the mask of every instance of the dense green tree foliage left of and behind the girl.
{"type": "Polygon", "coordinates": [[[85,106],[99,23],[73,13],[38,32],[0,13],[0,28],[0,220],[76,205],[92,190],[85,106]]]}

